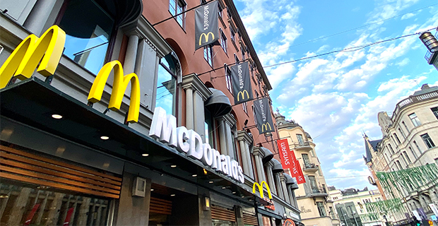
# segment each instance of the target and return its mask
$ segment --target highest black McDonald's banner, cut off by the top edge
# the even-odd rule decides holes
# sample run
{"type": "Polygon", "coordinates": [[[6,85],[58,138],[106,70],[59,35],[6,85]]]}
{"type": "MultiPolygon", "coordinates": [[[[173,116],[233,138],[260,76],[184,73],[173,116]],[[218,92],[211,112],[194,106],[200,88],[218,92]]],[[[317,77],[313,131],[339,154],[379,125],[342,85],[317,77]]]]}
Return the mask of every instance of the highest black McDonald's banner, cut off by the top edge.
{"type": "Polygon", "coordinates": [[[219,39],[218,2],[195,9],[195,50],[219,39]]]}

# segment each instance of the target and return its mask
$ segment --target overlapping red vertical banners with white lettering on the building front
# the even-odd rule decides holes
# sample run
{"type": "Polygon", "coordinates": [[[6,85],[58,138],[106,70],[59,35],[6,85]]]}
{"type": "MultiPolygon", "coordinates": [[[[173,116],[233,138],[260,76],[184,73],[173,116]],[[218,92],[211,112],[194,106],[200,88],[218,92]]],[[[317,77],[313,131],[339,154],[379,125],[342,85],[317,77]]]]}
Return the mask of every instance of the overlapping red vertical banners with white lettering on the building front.
{"type": "Polygon", "coordinates": [[[297,179],[298,184],[303,184],[306,182],[304,179],[304,174],[302,174],[302,169],[300,167],[300,162],[298,162],[295,157],[293,150],[289,149],[288,139],[281,139],[277,141],[278,151],[280,152],[281,165],[283,169],[289,169],[292,177],[297,179]]]}

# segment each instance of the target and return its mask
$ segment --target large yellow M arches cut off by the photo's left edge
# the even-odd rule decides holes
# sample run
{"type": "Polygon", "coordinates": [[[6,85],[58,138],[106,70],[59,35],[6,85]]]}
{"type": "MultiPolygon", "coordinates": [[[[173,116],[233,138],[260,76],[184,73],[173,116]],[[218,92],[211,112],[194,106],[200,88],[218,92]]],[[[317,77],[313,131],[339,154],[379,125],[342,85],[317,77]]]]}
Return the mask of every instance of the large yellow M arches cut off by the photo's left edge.
{"type": "Polygon", "coordinates": [[[66,32],[53,25],[38,38],[36,35],[26,37],[0,68],[0,88],[6,87],[11,78],[20,80],[30,78],[37,71],[43,76],[53,76],[64,51],[66,32]]]}

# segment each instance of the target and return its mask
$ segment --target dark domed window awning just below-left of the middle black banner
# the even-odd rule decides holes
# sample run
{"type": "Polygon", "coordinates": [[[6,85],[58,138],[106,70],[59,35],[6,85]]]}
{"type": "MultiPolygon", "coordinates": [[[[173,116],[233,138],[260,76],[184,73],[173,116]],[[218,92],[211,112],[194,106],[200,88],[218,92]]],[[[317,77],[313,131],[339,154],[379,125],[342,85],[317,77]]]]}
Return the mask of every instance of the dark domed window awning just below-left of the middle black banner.
{"type": "Polygon", "coordinates": [[[228,99],[228,97],[220,90],[216,90],[215,88],[208,89],[213,94],[208,97],[208,100],[205,102],[205,106],[208,111],[213,114],[213,117],[221,117],[230,113],[232,110],[230,99],[228,99]]]}

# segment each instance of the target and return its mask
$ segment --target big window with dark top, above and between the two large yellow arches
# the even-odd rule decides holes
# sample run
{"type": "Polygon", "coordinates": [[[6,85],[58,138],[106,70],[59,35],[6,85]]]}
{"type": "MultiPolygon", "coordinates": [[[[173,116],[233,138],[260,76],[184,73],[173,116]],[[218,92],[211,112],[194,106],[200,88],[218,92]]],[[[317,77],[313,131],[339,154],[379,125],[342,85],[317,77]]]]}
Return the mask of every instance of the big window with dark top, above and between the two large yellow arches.
{"type": "Polygon", "coordinates": [[[97,74],[105,62],[112,16],[93,0],[71,0],[59,27],[66,32],[64,54],[97,74]]]}

